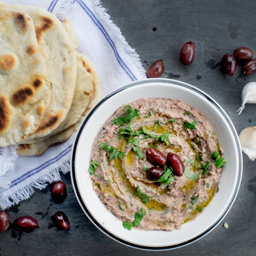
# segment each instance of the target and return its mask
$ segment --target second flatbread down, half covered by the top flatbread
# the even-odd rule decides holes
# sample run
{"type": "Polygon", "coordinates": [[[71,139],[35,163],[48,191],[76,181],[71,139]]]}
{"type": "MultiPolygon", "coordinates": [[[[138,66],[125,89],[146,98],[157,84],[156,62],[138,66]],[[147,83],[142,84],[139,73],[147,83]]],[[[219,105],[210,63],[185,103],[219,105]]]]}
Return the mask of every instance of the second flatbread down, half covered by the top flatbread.
{"type": "Polygon", "coordinates": [[[59,127],[71,107],[77,75],[76,54],[65,27],[52,13],[34,6],[9,6],[31,16],[38,44],[46,57],[48,79],[52,82],[51,101],[40,127],[28,138],[44,137],[59,127]]]}

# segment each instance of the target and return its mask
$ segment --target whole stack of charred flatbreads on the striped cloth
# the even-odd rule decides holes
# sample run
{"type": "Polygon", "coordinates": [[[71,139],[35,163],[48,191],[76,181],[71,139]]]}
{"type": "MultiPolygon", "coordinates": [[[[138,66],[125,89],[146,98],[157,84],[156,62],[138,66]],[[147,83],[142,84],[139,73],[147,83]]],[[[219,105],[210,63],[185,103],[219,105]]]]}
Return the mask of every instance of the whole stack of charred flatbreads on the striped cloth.
{"type": "Polygon", "coordinates": [[[0,2],[0,147],[40,155],[66,141],[101,99],[72,25],[45,9],[0,2]]]}

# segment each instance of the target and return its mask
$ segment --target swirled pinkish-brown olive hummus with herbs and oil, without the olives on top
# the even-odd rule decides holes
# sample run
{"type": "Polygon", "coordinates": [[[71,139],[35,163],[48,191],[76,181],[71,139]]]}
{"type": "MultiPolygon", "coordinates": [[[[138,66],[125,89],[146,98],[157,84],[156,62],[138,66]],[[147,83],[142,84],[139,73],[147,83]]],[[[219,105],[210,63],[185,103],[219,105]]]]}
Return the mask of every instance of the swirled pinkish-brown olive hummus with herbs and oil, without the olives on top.
{"type": "Polygon", "coordinates": [[[173,230],[203,212],[218,191],[225,163],[221,155],[213,128],[195,108],[146,98],[122,106],[104,124],[88,171],[99,198],[124,228],[173,230]],[[168,177],[148,179],[154,167],[148,148],[179,155],[183,175],[176,176],[167,162],[163,172],[171,171],[168,177]]]}

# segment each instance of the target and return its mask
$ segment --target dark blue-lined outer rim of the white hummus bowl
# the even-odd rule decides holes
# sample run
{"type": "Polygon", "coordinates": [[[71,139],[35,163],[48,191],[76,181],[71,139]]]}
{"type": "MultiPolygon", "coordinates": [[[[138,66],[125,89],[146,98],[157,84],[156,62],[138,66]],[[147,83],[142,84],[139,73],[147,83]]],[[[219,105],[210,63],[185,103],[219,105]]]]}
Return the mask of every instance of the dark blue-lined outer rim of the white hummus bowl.
{"type": "Polygon", "coordinates": [[[115,240],[116,242],[122,243],[124,245],[127,245],[129,247],[132,248],[136,248],[136,249],[143,249],[143,250],[154,250],[154,251],[161,251],[161,250],[169,250],[169,249],[177,249],[180,247],[183,247],[185,245],[188,245],[190,243],[194,243],[195,241],[201,239],[203,236],[206,236],[210,231],[212,231],[214,228],[216,228],[216,226],[222,221],[222,219],[227,215],[227,213],[229,212],[230,208],[232,207],[233,203],[235,202],[236,199],[236,195],[238,193],[239,187],[240,187],[240,183],[242,180],[242,173],[243,173],[243,156],[242,156],[242,150],[241,150],[241,145],[239,142],[239,138],[238,135],[236,133],[236,129],[232,123],[232,121],[229,119],[229,116],[226,114],[226,112],[222,109],[222,107],[213,99],[211,98],[208,94],[204,93],[202,90],[188,84],[182,81],[177,81],[177,80],[173,80],[173,79],[166,79],[166,78],[152,78],[152,79],[145,79],[145,80],[140,80],[140,81],[135,81],[132,83],[129,83],[121,88],[118,88],[116,90],[114,90],[113,92],[109,93],[107,96],[105,96],[101,101],[99,101],[94,108],[92,108],[92,110],[88,113],[88,115],[86,116],[86,118],[84,119],[84,121],[82,122],[74,143],[73,143],[73,147],[72,147],[72,152],[71,152],[71,159],[70,159],[70,175],[71,175],[71,181],[72,181],[72,185],[73,185],[73,189],[74,189],[74,193],[76,195],[77,201],[79,202],[82,210],[84,211],[84,213],[86,214],[86,216],[88,217],[88,219],[94,224],[94,226],[96,228],[98,228],[102,233],[104,233],[105,235],[107,235],[108,237],[112,238],[113,240],[115,240]],[[83,128],[85,127],[86,123],[88,122],[89,118],[94,114],[95,110],[97,108],[99,108],[101,106],[101,104],[103,102],[105,102],[106,100],[108,100],[109,98],[111,98],[112,96],[114,96],[115,94],[136,86],[136,85],[140,85],[140,84],[144,84],[144,83],[156,83],[156,82],[161,82],[161,83],[168,83],[168,84],[175,84],[175,85],[179,85],[185,88],[189,88],[192,89],[193,91],[201,94],[203,97],[205,97],[208,101],[210,101],[222,114],[222,116],[225,118],[225,120],[228,122],[229,127],[232,130],[233,136],[235,138],[236,141],[236,146],[238,149],[238,156],[239,156],[239,173],[238,173],[238,179],[236,182],[236,189],[235,192],[232,196],[231,201],[229,202],[229,206],[225,209],[225,211],[223,212],[222,216],[207,230],[205,230],[202,234],[196,236],[195,238],[192,238],[186,242],[183,243],[179,243],[179,244],[175,244],[175,245],[170,245],[170,246],[164,246],[164,247],[150,247],[150,246],[142,246],[142,245],[138,245],[138,244],[134,244],[134,243],[129,243],[117,236],[114,236],[112,233],[110,233],[108,230],[104,229],[100,223],[98,223],[94,217],[90,214],[90,212],[88,211],[86,205],[84,204],[78,186],[77,186],[77,182],[76,182],[76,176],[75,176],[75,156],[76,156],[76,149],[77,149],[77,145],[78,145],[78,141],[80,139],[81,133],[83,128]]]}

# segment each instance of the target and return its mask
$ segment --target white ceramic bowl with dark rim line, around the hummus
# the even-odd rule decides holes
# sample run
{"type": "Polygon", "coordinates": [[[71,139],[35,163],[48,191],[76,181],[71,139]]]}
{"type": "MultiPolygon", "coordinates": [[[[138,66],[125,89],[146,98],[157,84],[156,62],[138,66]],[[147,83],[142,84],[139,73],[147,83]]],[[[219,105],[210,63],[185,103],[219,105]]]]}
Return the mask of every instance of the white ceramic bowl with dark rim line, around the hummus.
{"type": "Polygon", "coordinates": [[[242,178],[242,151],[234,125],[209,95],[189,84],[169,79],[135,81],[103,98],[87,115],[77,132],[72,156],[71,178],[81,208],[103,233],[116,241],[139,249],[173,249],[193,243],[214,229],[231,208],[242,178]],[[93,190],[88,166],[95,136],[102,125],[122,105],[140,98],[164,97],[185,101],[198,109],[212,124],[223,148],[224,166],[219,192],[193,221],[174,231],[128,231],[121,220],[109,212],[93,190]]]}

